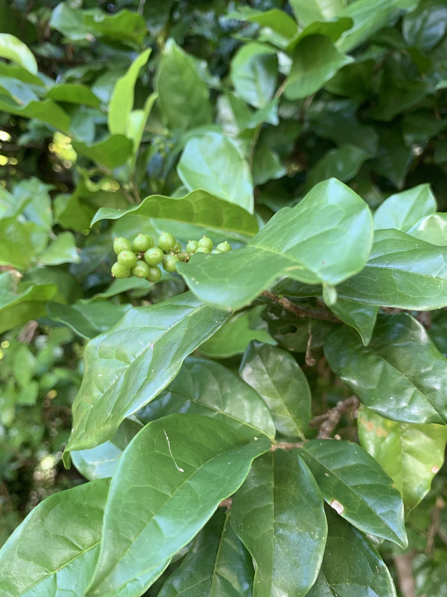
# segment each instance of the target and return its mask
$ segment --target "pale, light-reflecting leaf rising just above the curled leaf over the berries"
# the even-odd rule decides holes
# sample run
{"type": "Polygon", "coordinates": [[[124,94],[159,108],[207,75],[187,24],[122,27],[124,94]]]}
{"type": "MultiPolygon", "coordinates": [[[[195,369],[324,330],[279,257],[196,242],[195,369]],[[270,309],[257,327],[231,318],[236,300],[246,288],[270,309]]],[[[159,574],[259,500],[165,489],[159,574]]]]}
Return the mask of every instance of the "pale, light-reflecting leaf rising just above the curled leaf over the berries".
{"type": "Polygon", "coordinates": [[[237,143],[229,137],[207,133],[190,139],[177,173],[188,190],[203,189],[253,213],[250,168],[237,143]]]}

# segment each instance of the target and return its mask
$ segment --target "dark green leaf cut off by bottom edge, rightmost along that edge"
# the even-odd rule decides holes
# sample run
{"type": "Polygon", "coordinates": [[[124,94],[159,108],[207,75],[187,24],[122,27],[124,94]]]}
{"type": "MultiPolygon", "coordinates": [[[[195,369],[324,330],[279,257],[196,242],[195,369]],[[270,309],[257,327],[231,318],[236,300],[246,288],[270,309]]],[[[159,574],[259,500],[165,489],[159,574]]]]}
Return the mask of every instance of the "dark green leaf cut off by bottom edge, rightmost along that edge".
{"type": "Polygon", "coordinates": [[[307,597],[396,597],[389,570],[370,541],[330,508],[326,516],[326,549],[307,597]]]}

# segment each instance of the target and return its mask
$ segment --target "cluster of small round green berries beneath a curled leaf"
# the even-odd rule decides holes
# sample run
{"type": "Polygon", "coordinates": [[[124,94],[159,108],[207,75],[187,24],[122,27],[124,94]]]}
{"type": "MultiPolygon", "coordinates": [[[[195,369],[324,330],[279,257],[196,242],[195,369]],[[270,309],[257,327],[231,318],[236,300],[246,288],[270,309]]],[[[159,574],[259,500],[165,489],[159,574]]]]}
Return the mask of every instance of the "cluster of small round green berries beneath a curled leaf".
{"type": "Polygon", "coordinates": [[[166,272],[175,272],[178,261],[189,261],[193,253],[224,253],[231,251],[228,242],[221,242],[213,249],[213,241],[203,236],[200,241],[189,241],[186,251],[182,251],[181,244],[170,232],[162,232],[159,244],[154,244],[152,236],[139,233],[134,242],[124,236],[116,237],[113,250],[117,254],[117,261],[111,268],[115,278],[145,278],[149,282],[158,282],[162,277],[159,264],[163,263],[166,272]]]}

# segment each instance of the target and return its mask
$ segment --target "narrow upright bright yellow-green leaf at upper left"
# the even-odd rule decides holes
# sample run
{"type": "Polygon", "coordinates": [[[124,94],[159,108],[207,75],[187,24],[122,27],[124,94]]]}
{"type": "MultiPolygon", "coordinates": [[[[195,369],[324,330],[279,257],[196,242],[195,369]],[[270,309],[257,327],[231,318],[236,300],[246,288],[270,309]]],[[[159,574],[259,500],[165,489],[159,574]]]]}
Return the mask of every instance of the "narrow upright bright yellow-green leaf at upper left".
{"type": "MultiPolygon", "coordinates": [[[[131,13],[132,14],[132,13],[131,13]]],[[[144,50],[129,66],[125,75],[120,77],[110,98],[107,113],[108,130],[112,135],[125,135],[129,115],[134,107],[134,88],[139,71],[147,63],[151,49],[144,50]]],[[[119,162],[122,164],[122,162],[119,162]]]]}

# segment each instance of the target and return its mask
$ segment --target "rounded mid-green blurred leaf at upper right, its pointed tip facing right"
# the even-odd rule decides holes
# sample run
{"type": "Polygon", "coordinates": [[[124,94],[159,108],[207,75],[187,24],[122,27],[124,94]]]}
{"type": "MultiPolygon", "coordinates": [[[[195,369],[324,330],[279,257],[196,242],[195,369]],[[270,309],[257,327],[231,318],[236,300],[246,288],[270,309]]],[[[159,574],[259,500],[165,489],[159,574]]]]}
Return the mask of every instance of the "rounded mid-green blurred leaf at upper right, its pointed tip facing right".
{"type": "Polygon", "coordinates": [[[284,90],[288,100],[316,93],[353,59],[342,54],[324,35],[309,35],[297,44],[284,90]]]}

